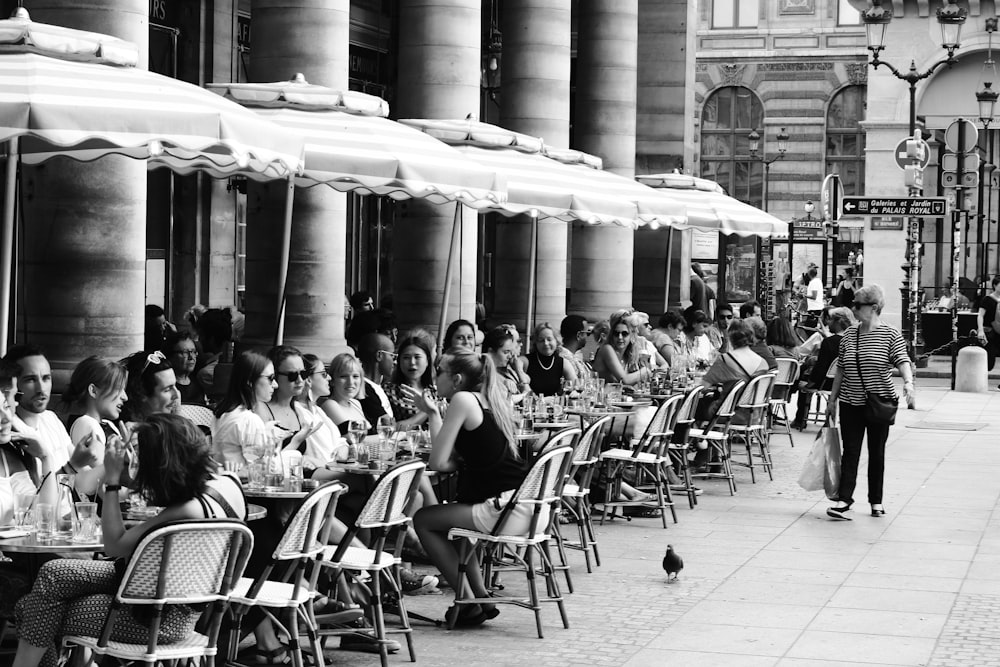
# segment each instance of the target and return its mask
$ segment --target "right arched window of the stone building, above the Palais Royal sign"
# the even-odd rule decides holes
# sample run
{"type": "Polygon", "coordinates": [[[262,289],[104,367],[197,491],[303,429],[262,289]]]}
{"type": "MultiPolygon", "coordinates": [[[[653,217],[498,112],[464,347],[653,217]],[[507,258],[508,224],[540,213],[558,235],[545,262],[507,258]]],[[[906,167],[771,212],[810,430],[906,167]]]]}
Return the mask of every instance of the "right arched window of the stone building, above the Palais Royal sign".
{"type": "Polygon", "coordinates": [[[826,112],[826,173],[840,174],[844,194],[865,193],[865,86],[838,92],[826,112]]]}

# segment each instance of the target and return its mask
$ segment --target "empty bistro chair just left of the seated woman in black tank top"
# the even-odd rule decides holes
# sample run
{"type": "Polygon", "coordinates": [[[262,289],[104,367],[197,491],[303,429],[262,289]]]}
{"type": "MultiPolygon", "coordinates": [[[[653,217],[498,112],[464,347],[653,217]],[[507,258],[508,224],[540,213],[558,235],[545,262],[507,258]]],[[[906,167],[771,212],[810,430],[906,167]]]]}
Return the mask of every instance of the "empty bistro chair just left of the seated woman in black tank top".
{"type": "Polygon", "coordinates": [[[346,572],[367,573],[371,577],[367,586],[371,589],[369,611],[372,621],[372,627],[367,629],[321,627],[319,630],[321,642],[325,643],[327,637],[345,634],[370,637],[378,642],[382,667],[389,664],[384,598],[391,600],[393,611],[399,615],[400,628],[394,629],[393,632],[406,636],[410,660],[413,662],[417,660],[413,646],[413,630],[403,602],[400,568],[403,562],[403,535],[412,522],[411,510],[417,497],[420,477],[426,467],[423,461],[406,461],[386,470],[368,494],[361,513],[347,535],[339,545],[326,547],[320,560],[322,567],[333,571],[334,584],[342,577],[346,577],[346,572]],[[369,531],[371,535],[370,548],[351,546],[351,542],[362,530],[369,531]],[[395,543],[392,552],[386,550],[386,544],[390,541],[395,543]]]}

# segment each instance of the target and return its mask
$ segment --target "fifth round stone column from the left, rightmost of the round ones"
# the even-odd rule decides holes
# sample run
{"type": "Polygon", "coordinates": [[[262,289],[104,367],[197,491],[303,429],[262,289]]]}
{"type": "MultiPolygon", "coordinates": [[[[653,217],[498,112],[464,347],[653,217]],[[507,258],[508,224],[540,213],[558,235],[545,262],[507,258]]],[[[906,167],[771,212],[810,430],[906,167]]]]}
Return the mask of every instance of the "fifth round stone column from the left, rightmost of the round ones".
{"type": "MultiPolygon", "coordinates": [[[[574,147],[627,178],[635,176],[638,19],[635,0],[581,2],[577,19],[574,147]]],[[[574,224],[571,312],[604,319],[632,303],[632,237],[574,224]]]]}

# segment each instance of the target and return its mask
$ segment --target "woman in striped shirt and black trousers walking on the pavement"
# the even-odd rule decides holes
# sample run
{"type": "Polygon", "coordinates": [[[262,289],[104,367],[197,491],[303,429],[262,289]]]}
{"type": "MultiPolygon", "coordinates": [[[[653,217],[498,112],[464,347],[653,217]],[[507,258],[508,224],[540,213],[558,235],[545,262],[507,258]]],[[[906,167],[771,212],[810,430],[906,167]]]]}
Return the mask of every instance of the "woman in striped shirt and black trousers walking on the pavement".
{"type": "Polygon", "coordinates": [[[892,368],[903,377],[903,391],[913,395],[913,374],[906,354],[903,335],[885,324],[879,314],[885,305],[882,288],[866,285],[854,294],[854,314],[859,324],[851,327],[840,340],[837,371],[827,405],[827,416],[836,419],[840,411],[840,436],[844,455],[840,471],[837,502],[826,510],[827,516],[850,521],[848,512],[854,504],[858,479],[861,441],[868,434],[868,502],[872,516],[885,514],[882,506],[882,481],[885,471],[885,441],[889,420],[870,414],[868,396],[898,399],[892,386],[892,368]]]}

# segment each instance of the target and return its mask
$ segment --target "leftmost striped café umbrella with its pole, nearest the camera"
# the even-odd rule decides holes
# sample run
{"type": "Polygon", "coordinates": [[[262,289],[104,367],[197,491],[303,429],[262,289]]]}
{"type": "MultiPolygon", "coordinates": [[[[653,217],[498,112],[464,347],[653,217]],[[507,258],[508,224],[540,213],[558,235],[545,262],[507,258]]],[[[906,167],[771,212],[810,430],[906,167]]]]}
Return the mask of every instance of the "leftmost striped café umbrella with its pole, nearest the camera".
{"type": "MultiPolygon", "coordinates": [[[[303,143],[198,86],[135,69],[138,49],[108,35],[0,20],[0,142],[6,142],[0,348],[9,330],[18,161],[124,155],[188,173],[291,179],[303,143]]],[[[286,215],[290,215],[290,210],[286,215]]]]}

